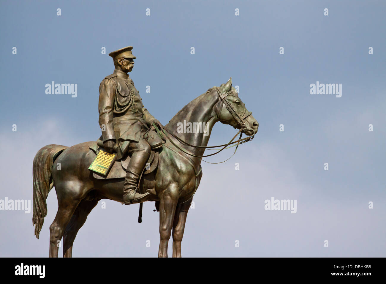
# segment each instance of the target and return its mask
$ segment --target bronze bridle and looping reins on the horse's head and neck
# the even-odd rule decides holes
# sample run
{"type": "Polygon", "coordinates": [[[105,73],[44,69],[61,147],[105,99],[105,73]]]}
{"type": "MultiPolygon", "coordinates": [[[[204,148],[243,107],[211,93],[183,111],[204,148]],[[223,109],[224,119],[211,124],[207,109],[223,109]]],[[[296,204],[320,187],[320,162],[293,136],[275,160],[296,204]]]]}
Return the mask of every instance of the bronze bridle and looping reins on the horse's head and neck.
{"type": "MultiPolygon", "coordinates": [[[[208,156],[213,156],[213,155],[216,155],[217,153],[220,153],[220,152],[221,152],[222,150],[224,150],[228,145],[237,143],[237,145],[234,145],[234,146],[236,146],[236,149],[235,149],[235,151],[234,151],[234,153],[233,153],[233,155],[234,155],[234,154],[236,153],[236,150],[237,150],[237,148],[239,147],[240,144],[245,143],[245,142],[248,142],[248,141],[251,141],[251,140],[254,138],[254,136],[255,136],[255,134],[253,134],[253,135],[250,135],[249,137],[246,137],[246,138],[241,139],[242,133],[243,133],[244,129],[246,128],[246,126],[245,126],[245,122],[246,122],[245,119],[246,119],[248,116],[250,116],[250,115],[252,114],[252,112],[247,112],[247,114],[245,114],[245,112],[246,112],[246,109],[245,109],[245,111],[244,111],[243,114],[240,114],[240,113],[238,114],[238,113],[235,111],[235,109],[233,108],[232,103],[225,99],[228,95],[234,93],[233,90],[231,89],[229,92],[224,93],[224,92],[221,92],[221,90],[220,90],[219,87],[215,87],[215,89],[217,90],[217,93],[218,93],[218,96],[220,97],[220,100],[223,102],[223,104],[225,104],[225,107],[226,107],[227,110],[230,112],[230,114],[233,116],[233,118],[234,118],[235,121],[237,122],[237,125],[240,126],[240,130],[239,130],[239,132],[236,133],[236,135],[235,135],[235,136],[234,136],[227,144],[217,145],[217,146],[197,146],[197,145],[191,145],[191,144],[189,144],[188,142],[186,142],[186,141],[182,140],[181,138],[175,136],[175,135],[174,135],[173,133],[171,133],[168,129],[165,129],[162,125],[159,125],[159,127],[160,127],[161,130],[163,131],[165,137],[168,138],[169,141],[170,141],[176,148],[178,148],[180,151],[184,152],[184,153],[187,154],[187,155],[190,155],[190,156],[193,156],[193,157],[199,157],[199,158],[208,157],[208,156]],[[178,145],[176,145],[176,144],[174,143],[174,141],[171,140],[171,139],[168,137],[168,134],[166,134],[166,132],[167,132],[168,134],[170,134],[171,136],[173,136],[174,138],[176,138],[176,139],[177,139],[180,143],[182,143],[183,145],[191,146],[191,147],[194,147],[194,148],[217,148],[217,147],[222,147],[222,146],[223,146],[223,148],[220,149],[219,151],[217,151],[216,153],[213,153],[213,154],[210,154],[210,155],[203,155],[203,156],[200,156],[200,155],[194,155],[194,154],[192,154],[192,153],[189,153],[189,152],[187,152],[187,151],[181,149],[178,145]],[[239,139],[238,139],[237,141],[233,141],[233,139],[235,139],[236,136],[237,136],[239,133],[240,133],[239,139]],[[232,142],[232,141],[233,141],[233,142],[232,142]]],[[[221,109],[222,109],[222,107],[221,107],[221,109]]],[[[220,113],[221,113],[221,111],[220,111],[220,113]]],[[[235,125],[234,128],[236,128],[237,125],[235,125]]],[[[161,133],[160,133],[160,131],[159,131],[159,129],[156,127],[156,125],[155,125],[154,123],[153,123],[153,126],[154,126],[154,128],[156,129],[158,135],[159,135],[161,138],[163,138],[162,135],[161,135],[161,133]]],[[[231,146],[231,147],[233,147],[233,146],[231,146]]],[[[230,147],[229,147],[229,148],[230,148],[230,147]]],[[[213,150],[213,149],[210,149],[210,150],[213,150]]],[[[232,156],[233,156],[233,155],[232,155],[232,156]]],[[[232,156],[230,156],[227,160],[229,160],[230,158],[232,158],[232,156]]],[[[223,161],[223,162],[226,162],[227,160],[225,160],[225,161],[223,161]]],[[[206,163],[210,163],[210,162],[207,162],[207,161],[205,161],[205,160],[203,160],[203,161],[206,162],[206,163]]],[[[219,162],[219,163],[223,163],[223,162],[219,162]]],[[[218,163],[211,163],[211,164],[218,164],[218,163]]]]}

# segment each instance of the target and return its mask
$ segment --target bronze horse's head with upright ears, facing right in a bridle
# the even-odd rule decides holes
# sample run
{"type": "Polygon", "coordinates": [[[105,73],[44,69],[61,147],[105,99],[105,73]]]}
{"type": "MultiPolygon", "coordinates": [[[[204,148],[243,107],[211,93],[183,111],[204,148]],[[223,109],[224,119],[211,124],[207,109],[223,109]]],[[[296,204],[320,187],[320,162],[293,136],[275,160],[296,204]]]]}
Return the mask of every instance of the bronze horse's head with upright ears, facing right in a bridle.
{"type": "Polygon", "coordinates": [[[222,109],[218,116],[218,120],[223,124],[229,124],[237,129],[242,129],[247,135],[257,133],[259,123],[245,107],[245,104],[239,98],[236,89],[232,87],[232,77],[225,84],[221,84],[217,88],[222,99],[222,109]]]}

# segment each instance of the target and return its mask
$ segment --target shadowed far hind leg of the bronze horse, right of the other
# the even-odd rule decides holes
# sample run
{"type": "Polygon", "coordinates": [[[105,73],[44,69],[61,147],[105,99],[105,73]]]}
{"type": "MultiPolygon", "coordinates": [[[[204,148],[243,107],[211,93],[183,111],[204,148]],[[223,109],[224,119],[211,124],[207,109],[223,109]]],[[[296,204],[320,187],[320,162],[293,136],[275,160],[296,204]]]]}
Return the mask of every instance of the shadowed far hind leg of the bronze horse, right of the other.
{"type": "Polygon", "coordinates": [[[97,206],[97,200],[85,201],[84,199],[76,207],[63,235],[63,257],[72,257],[73,243],[79,229],[86,222],[88,214],[97,206]]]}

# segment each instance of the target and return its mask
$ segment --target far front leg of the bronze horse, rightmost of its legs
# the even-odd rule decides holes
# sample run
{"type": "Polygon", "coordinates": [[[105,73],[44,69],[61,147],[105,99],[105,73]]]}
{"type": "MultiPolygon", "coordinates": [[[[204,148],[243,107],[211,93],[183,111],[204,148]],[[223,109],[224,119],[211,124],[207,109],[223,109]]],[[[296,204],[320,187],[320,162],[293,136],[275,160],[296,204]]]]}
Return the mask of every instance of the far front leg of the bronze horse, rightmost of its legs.
{"type": "Polygon", "coordinates": [[[173,257],[181,257],[181,241],[184,235],[186,216],[192,200],[193,197],[184,203],[177,204],[173,222],[173,257]]]}

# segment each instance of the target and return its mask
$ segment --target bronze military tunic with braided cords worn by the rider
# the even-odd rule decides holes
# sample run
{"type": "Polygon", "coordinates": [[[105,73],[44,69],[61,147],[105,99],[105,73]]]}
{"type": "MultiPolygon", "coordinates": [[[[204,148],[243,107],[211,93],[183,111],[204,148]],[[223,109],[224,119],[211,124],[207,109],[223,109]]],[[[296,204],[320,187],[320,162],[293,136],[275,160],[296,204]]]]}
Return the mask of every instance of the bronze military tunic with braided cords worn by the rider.
{"type": "Polygon", "coordinates": [[[99,126],[105,125],[99,139],[103,142],[116,140],[119,145],[117,159],[127,152],[130,141],[138,142],[156,120],[142,104],[129,75],[116,69],[100,83],[98,109],[99,126]]]}

